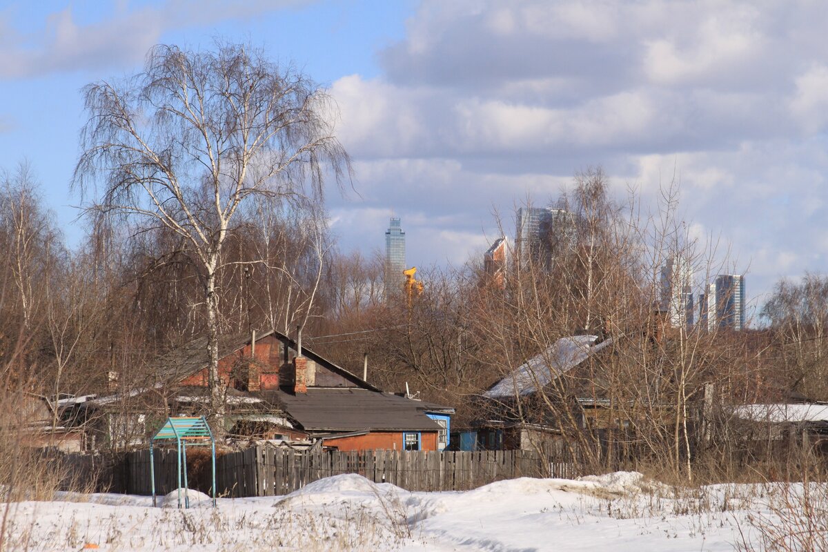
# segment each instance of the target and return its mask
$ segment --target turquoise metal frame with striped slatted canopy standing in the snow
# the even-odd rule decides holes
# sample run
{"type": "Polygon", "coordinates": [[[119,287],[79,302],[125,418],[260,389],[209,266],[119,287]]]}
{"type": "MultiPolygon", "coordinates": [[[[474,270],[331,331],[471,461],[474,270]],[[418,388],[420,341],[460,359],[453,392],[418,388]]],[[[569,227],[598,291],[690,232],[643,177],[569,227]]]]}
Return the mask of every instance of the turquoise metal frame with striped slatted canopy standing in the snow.
{"type": "Polygon", "coordinates": [[[178,507],[181,508],[181,476],[184,476],[184,507],[190,507],[190,497],[187,495],[187,444],[190,446],[209,446],[210,459],[213,468],[213,485],[210,491],[213,495],[213,506],[215,506],[215,440],[213,432],[204,416],[200,418],[167,418],[161,429],[157,430],[150,439],[150,479],[152,480],[152,506],[156,505],[155,492],[155,456],[153,455],[153,444],[157,440],[176,439],[178,445],[178,507]],[[183,469],[182,469],[183,466],[183,469]]]}

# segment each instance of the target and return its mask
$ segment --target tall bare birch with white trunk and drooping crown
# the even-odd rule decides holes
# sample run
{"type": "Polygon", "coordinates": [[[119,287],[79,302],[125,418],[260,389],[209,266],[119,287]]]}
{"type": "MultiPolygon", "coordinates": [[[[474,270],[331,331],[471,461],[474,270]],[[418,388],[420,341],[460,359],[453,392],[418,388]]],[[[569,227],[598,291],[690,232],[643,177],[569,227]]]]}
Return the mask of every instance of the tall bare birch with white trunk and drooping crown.
{"type": "Polygon", "coordinates": [[[89,84],[84,96],[75,185],[100,192],[93,216],[120,218],[133,233],[168,228],[186,244],[203,286],[209,410],[220,426],[222,247],[246,200],[320,200],[326,178],[349,176],[335,107],[305,75],[238,45],[156,46],[141,73],[89,84]]]}

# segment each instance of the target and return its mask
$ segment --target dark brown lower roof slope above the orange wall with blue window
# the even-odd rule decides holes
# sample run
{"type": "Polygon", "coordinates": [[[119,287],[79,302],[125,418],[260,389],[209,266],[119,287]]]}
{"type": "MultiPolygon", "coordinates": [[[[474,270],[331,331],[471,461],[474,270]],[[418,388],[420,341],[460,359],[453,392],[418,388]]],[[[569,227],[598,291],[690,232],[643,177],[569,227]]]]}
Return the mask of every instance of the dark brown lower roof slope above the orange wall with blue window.
{"type": "Polygon", "coordinates": [[[308,388],[307,393],[261,391],[306,431],[436,431],[419,401],[356,387],[308,388]]]}

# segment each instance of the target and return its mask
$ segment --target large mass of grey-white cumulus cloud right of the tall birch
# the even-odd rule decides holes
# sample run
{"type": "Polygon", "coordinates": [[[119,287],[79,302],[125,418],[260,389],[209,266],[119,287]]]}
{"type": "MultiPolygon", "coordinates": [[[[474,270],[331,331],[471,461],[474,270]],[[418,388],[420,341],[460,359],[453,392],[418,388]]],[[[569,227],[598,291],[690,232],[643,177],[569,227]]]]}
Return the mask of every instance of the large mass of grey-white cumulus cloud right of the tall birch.
{"type": "Polygon", "coordinates": [[[694,236],[759,294],[826,270],[826,19],[782,0],[426,1],[381,76],[332,93],[366,203],[453,212],[431,220],[463,236],[434,233],[445,247],[588,165],[652,204],[675,174],[694,236]]]}

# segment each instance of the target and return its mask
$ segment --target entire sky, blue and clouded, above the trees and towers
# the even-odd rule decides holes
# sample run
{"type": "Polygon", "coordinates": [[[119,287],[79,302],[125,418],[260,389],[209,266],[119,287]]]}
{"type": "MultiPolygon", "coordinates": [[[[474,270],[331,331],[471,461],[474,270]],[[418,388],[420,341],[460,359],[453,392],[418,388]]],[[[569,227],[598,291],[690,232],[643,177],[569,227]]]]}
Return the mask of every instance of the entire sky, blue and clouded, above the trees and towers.
{"type": "Polygon", "coordinates": [[[76,241],[79,89],[156,43],[248,41],[339,103],[345,250],[382,247],[394,213],[409,264],[464,262],[497,236],[493,212],[511,233],[527,194],[544,204],[599,164],[645,215],[676,175],[686,232],[715,243],[713,271],[747,271],[758,304],[826,271],[826,23],[828,2],[805,0],[0,3],[0,167],[30,161],[76,241]]]}

